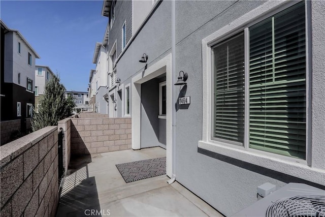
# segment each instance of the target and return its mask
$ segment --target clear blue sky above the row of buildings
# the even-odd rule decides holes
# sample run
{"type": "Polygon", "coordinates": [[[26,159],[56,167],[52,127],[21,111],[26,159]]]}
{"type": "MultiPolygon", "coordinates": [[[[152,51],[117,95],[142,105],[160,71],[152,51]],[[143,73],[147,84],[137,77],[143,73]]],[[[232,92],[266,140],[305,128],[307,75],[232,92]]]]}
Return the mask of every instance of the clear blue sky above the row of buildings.
{"type": "Polygon", "coordinates": [[[102,42],[107,17],[103,1],[3,1],[1,19],[17,29],[67,90],[87,91],[96,42],[102,42]]]}

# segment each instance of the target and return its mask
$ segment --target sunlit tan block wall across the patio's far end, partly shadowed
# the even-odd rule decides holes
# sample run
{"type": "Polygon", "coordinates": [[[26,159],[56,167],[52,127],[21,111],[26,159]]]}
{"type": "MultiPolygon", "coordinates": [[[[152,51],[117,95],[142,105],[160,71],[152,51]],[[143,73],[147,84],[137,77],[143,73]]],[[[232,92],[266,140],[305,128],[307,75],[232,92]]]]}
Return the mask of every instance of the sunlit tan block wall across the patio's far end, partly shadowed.
{"type": "Polygon", "coordinates": [[[71,154],[131,149],[131,118],[71,118],[71,154]]]}

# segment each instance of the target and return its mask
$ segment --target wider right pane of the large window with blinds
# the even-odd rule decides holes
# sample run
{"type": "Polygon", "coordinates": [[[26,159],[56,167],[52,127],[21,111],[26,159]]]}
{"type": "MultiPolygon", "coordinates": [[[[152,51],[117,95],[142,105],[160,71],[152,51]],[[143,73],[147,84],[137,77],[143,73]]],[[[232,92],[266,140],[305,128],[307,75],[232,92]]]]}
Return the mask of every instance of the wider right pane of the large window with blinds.
{"type": "Polygon", "coordinates": [[[305,159],[305,3],[249,28],[249,147],[305,159]]]}

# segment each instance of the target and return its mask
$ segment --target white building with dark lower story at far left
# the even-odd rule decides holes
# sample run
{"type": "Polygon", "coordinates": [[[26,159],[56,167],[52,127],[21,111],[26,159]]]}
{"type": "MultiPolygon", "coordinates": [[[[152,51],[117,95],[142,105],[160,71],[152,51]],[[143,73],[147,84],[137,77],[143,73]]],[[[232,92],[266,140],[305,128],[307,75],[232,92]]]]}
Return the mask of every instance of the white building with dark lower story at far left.
{"type": "Polygon", "coordinates": [[[35,104],[36,58],[40,56],[19,31],[1,20],[1,121],[21,119],[21,132],[28,128],[26,118],[35,104]]]}

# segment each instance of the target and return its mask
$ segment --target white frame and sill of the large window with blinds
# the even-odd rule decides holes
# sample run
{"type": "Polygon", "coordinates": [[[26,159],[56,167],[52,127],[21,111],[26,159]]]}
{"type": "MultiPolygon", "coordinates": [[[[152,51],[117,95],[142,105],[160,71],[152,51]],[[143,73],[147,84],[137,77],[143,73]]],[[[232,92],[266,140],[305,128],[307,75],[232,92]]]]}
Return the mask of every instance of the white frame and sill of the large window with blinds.
{"type": "MultiPolygon", "coordinates": [[[[244,127],[244,144],[238,146],[224,141],[215,141],[212,139],[212,116],[213,116],[213,85],[211,81],[213,74],[212,47],[217,43],[229,39],[232,36],[244,30],[244,46],[245,46],[245,116],[249,116],[249,31],[248,28],[254,24],[261,22],[299,2],[272,2],[258,7],[254,11],[250,11],[242,17],[238,18],[230,25],[218,29],[215,33],[202,40],[202,55],[203,55],[203,125],[202,125],[202,140],[198,142],[198,147],[213,152],[223,154],[228,157],[236,158],[244,162],[265,166],[275,171],[281,170],[277,166],[269,166],[265,163],[266,159],[271,162],[288,162],[289,164],[298,163],[299,165],[311,165],[311,41],[310,37],[310,19],[311,5],[308,1],[305,2],[305,23],[306,23],[306,160],[293,157],[282,156],[280,154],[271,153],[262,150],[249,148],[249,118],[245,118],[244,127]]],[[[270,162],[269,161],[269,162],[270,162]]],[[[285,170],[285,169],[284,169],[285,170]]],[[[288,171],[285,171],[286,173],[288,171]]]]}

